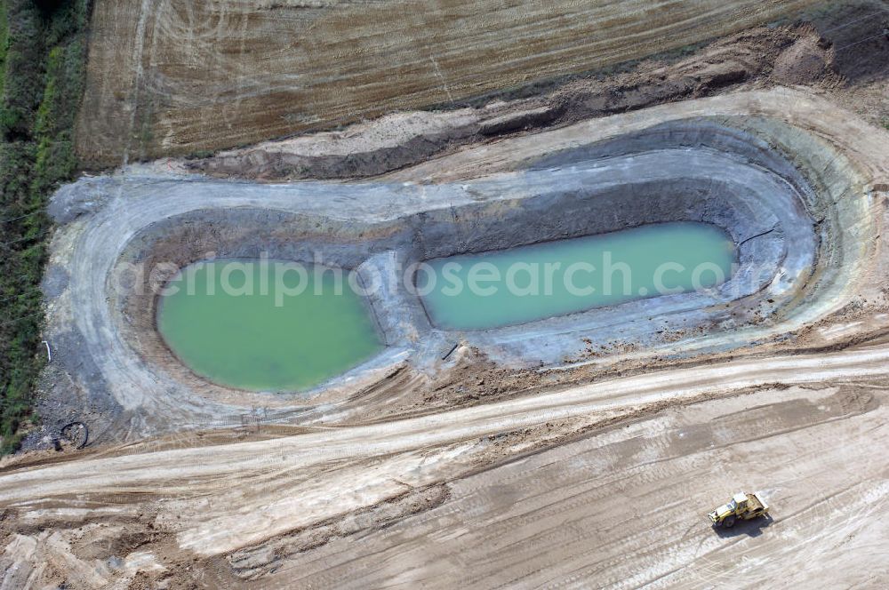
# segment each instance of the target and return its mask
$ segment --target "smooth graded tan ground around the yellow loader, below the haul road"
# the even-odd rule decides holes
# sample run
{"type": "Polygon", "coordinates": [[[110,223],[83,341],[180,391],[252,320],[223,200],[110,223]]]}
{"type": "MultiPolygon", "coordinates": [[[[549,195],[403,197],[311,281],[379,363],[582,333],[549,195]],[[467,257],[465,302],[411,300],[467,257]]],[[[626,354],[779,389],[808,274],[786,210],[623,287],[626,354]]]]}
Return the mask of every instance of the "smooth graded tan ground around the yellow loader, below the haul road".
{"type": "Polygon", "coordinates": [[[297,554],[267,587],[882,587],[885,380],[698,403],[452,482],[445,506],[297,554]],[[739,490],[772,521],[710,530],[739,490]]]}

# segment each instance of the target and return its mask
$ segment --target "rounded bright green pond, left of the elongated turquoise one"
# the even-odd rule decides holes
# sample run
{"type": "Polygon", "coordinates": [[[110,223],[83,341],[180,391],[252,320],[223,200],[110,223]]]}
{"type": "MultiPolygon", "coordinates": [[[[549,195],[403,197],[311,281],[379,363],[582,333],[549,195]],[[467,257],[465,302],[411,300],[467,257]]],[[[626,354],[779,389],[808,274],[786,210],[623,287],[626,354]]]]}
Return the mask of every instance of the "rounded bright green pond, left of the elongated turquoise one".
{"type": "Polygon", "coordinates": [[[370,310],[348,281],[311,265],[300,274],[292,264],[216,259],[186,267],[164,287],[158,331],[196,374],[252,391],[306,390],[379,353],[370,310]]]}

